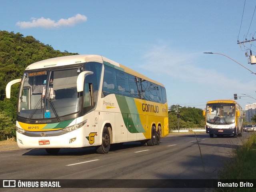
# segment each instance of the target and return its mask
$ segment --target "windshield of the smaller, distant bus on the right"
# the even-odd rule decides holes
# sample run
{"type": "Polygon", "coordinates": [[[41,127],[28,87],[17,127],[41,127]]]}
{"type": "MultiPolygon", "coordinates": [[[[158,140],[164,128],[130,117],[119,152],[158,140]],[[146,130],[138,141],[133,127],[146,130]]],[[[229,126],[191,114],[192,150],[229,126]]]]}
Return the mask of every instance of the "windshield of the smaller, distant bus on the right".
{"type": "Polygon", "coordinates": [[[211,124],[232,124],[235,122],[234,104],[207,104],[206,122],[211,124]]]}

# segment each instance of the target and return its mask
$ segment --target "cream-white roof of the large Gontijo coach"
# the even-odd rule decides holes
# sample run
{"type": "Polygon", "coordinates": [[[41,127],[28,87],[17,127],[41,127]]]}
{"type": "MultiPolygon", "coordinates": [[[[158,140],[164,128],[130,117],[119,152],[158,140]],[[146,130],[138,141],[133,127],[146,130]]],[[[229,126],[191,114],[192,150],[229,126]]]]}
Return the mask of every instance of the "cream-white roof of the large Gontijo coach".
{"type": "Polygon", "coordinates": [[[127,72],[129,74],[132,74],[134,76],[137,76],[144,80],[148,80],[152,83],[156,83],[156,84],[164,87],[163,84],[156,82],[156,81],[154,81],[154,80],[140,74],[139,72],[136,72],[122,64],[119,64],[118,62],[115,62],[113,60],[110,60],[110,59],[100,56],[100,55],[71,55],[71,56],[50,58],[50,59],[32,63],[26,68],[26,70],[36,70],[36,69],[53,68],[53,67],[56,68],[56,67],[60,67],[60,66],[79,64],[79,63],[85,63],[85,62],[99,62],[102,64],[107,62],[107,63],[112,64],[113,66],[122,68],[124,70],[124,72],[127,72]]]}

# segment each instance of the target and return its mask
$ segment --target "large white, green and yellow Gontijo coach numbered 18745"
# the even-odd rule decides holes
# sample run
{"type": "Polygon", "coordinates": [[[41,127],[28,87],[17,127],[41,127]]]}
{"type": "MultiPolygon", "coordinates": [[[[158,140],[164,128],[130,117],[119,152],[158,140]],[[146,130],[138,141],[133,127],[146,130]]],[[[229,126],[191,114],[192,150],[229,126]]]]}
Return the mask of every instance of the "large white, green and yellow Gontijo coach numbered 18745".
{"type": "Polygon", "coordinates": [[[164,85],[98,55],[51,58],[30,64],[20,82],[16,136],[19,148],[95,146],[140,141],[158,145],[168,135],[164,85]]]}

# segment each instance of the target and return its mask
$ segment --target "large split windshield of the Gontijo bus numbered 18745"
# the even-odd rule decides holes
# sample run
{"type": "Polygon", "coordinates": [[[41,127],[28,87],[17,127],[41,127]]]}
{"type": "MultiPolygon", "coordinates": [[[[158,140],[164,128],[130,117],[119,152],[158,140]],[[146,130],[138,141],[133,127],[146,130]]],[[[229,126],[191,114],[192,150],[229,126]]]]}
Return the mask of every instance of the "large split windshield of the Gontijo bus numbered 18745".
{"type": "Polygon", "coordinates": [[[18,116],[59,118],[80,110],[76,79],[80,68],[26,71],[18,95],[18,116]]]}

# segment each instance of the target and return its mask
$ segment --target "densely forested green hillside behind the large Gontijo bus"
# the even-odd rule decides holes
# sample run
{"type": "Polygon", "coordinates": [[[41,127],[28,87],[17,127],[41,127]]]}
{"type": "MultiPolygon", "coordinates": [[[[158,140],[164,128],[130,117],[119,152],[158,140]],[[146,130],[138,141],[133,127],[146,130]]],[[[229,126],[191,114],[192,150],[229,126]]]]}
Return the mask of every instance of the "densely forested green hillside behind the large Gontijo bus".
{"type": "Polygon", "coordinates": [[[18,84],[12,86],[11,98],[5,99],[6,84],[21,78],[29,64],[74,54],[54,50],[32,36],[0,30],[0,140],[15,136],[18,84]]]}

